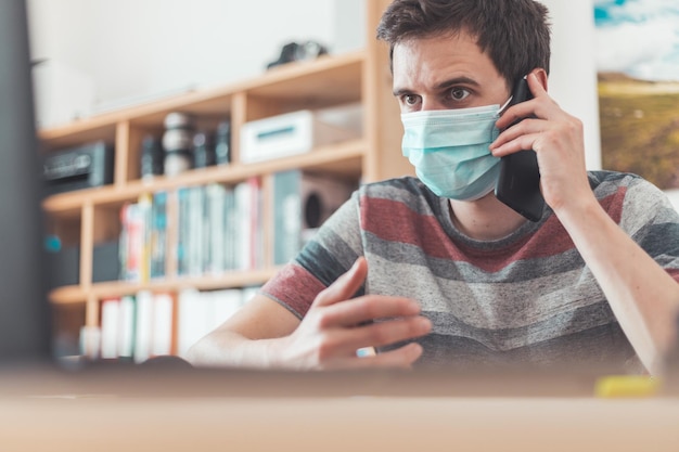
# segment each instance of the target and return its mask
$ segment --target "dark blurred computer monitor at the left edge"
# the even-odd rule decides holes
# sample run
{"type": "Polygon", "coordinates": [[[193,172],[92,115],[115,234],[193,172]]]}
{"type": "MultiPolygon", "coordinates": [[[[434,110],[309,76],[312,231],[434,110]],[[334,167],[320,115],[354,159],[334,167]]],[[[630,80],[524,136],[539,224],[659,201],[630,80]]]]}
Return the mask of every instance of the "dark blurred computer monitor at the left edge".
{"type": "Polygon", "coordinates": [[[29,53],[25,1],[0,1],[0,366],[51,357],[29,53]]]}

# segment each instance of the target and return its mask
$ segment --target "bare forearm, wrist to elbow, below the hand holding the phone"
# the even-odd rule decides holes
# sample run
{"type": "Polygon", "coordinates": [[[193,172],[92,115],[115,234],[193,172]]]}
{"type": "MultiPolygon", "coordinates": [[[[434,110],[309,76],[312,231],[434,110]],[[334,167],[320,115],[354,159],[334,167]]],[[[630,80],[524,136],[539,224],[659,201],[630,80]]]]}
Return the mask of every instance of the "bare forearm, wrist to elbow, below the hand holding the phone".
{"type": "Polygon", "coordinates": [[[679,284],[593,202],[563,208],[559,219],[652,374],[677,338],[679,284]]]}

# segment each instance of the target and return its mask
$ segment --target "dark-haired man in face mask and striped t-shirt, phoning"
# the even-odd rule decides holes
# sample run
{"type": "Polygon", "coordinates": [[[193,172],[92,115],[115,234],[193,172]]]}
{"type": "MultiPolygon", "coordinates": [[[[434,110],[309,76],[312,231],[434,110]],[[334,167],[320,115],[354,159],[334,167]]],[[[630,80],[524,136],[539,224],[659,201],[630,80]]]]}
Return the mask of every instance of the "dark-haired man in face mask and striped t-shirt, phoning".
{"type": "Polygon", "coordinates": [[[677,334],[679,217],[636,176],[586,171],[580,121],[547,94],[547,14],[534,0],[396,0],[377,37],[419,179],[359,189],[190,361],[662,372],[677,334]],[[501,112],[525,75],[534,99],[501,112]],[[492,190],[499,157],[520,150],[537,154],[537,222],[492,190]],[[357,353],[367,348],[377,353],[357,353]]]}

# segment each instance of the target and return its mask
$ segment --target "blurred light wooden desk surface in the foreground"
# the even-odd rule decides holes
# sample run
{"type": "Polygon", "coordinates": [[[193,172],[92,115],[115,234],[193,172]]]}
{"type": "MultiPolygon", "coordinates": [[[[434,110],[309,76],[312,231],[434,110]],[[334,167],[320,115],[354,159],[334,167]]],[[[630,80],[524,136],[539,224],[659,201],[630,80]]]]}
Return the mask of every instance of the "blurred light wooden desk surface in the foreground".
{"type": "Polygon", "coordinates": [[[40,379],[3,385],[2,451],[679,451],[678,398],[14,392],[40,379]]]}

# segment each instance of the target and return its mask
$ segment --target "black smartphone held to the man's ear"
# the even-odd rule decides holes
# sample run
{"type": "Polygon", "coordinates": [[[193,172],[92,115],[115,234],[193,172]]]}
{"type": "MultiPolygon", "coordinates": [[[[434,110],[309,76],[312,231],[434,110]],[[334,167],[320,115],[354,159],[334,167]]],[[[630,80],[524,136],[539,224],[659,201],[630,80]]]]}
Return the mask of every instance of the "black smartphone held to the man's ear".
{"type": "MultiPolygon", "coordinates": [[[[514,83],[508,107],[529,99],[533,99],[533,94],[528,81],[522,77],[514,83]]],[[[518,121],[521,119],[512,126],[518,121]]],[[[518,151],[500,159],[500,177],[495,195],[530,221],[538,221],[542,217],[545,198],[540,192],[540,170],[535,151],[518,151]]]]}

